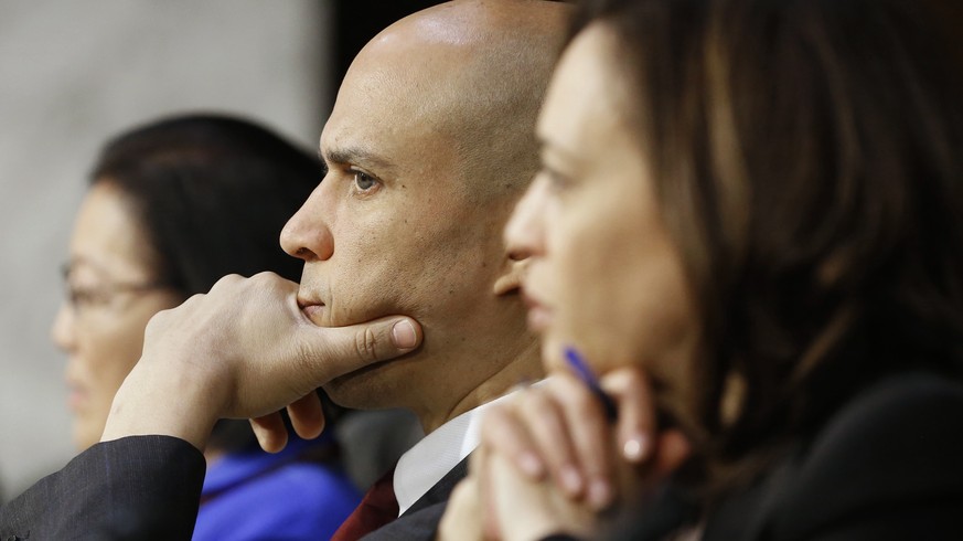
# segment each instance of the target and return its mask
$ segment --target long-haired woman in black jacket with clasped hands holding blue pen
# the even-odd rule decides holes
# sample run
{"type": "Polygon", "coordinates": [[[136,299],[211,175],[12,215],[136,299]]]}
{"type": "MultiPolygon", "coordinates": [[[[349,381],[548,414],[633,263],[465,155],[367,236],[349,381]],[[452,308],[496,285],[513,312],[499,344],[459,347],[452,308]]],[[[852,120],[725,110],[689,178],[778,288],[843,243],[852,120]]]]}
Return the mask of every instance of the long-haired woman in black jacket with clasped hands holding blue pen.
{"type": "Polygon", "coordinates": [[[963,539],[954,4],[585,2],[506,234],[554,376],[442,538],[963,539]]]}

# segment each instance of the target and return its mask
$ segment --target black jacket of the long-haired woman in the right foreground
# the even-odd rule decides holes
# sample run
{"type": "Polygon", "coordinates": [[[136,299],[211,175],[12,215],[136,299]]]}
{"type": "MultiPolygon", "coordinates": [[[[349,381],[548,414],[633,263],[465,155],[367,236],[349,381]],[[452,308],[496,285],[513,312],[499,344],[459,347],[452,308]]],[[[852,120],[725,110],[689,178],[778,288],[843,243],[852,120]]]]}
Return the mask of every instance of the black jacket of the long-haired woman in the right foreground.
{"type": "MultiPolygon", "coordinates": [[[[616,539],[663,539],[662,517],[646,512],[616,539]]],[[[723,500],[703,537],[803,540],[963,540],[963,385],[908,373],[870,386],[723,500]]]]}

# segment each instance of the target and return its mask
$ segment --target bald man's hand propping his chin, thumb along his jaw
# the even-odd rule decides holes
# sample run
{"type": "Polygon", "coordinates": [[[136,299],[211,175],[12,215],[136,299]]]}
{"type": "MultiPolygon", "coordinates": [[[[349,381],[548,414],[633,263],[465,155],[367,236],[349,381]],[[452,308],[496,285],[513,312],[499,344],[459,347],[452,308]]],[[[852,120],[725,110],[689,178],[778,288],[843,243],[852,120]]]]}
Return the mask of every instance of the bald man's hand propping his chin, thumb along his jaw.
{"type": "Polygon", "coordinates": [[[261,445],[283,447],[277,412],[306,437],[323,428],[314,390],[339,375],[407,353],[420,327],[386,317],[321,328],[298,308],[298,285],[270,273],[225,276],[206,295],[156,315],[143,353],[117,396],[101,441],[163,434],[200,449],[218,418],[255,420],[261,445]]]}

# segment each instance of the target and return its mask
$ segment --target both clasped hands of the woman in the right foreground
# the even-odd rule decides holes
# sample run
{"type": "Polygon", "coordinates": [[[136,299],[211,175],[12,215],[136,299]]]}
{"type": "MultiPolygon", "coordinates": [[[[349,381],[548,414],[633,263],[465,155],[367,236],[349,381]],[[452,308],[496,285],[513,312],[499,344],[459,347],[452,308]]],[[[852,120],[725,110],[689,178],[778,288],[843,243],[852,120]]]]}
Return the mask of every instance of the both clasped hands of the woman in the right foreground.
{"type": "Polygon", "coordinates": [[[567,373],[492,405],[439,539],[590,537],[602,510],[634,503],[682,465],[689,445],[681,432],[659,429],[640,369],[619,369],[600,384],[617,405],[614,425],[599,397],[567,373]]]}

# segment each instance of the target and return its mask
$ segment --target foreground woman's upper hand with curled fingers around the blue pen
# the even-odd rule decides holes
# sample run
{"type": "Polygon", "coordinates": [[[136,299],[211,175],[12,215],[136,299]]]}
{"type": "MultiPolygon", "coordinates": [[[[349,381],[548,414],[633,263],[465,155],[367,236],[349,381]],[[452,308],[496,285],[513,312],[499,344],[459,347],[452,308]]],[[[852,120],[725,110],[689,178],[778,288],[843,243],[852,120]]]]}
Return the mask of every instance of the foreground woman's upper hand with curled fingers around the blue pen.
{"type": "Polygon", "coordinates": [[[529,479],[545,476],[571,499],[596,510],[610,506],[616,479],[656,485],[689,454],[684,435],[656,426],[654,397],[640,368],[623,368],[600,379],[618,409],[612,425],[598,397],[575,375],[558,373],[543,384],[492,406],[482,424],[482,447],[506,457],[529,479]],[[629,468],[631,475],[616,475],[629,468]]]}

